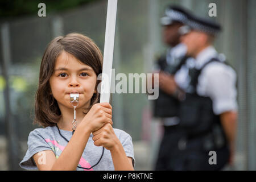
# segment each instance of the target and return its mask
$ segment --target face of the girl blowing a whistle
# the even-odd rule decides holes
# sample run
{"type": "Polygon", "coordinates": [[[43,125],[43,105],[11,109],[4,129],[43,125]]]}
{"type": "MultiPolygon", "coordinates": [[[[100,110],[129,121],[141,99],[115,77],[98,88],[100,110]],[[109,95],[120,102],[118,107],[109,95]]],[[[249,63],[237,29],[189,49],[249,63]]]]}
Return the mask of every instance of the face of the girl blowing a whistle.
{"type": "Polygon", "coordinates": [[[70,93],[79,93],[79,107],[89,107],[93,93],[96,93],[97,76],[91,67],[81,63],[68,52],[57,57],[53,74],[49,80],[53,97],[63,107],[73,109],[70,93]]]}

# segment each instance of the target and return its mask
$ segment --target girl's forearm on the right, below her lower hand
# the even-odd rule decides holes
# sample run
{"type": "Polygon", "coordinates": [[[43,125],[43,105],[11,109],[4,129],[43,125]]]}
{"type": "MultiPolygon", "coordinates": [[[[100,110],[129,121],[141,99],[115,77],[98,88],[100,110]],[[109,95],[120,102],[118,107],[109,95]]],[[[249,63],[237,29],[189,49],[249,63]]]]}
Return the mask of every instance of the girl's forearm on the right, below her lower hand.
{"type": "Polygon", "coordinates": [[[113,150],[110,150],[115,171],[133,171],[133,164],[131,164],[129,158],[125,154],[125,150],[121,143],[114,146],[113,150]]]}

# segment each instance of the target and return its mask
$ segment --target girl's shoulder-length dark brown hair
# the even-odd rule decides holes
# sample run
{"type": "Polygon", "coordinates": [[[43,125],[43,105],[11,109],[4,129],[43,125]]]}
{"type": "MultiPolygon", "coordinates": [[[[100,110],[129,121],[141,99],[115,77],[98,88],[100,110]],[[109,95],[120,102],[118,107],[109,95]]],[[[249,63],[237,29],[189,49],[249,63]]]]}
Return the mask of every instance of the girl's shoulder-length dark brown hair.
{"type": "MultiPolygon", "coordinates": [[[[51,94],[49,79],[54,72],[56,59],[63,51],[71,53],[76,59],[92,67],[96,76],[102,73],[102,53],[92,39],[77,33],[71,33],[64,37],[59,36],[53,39],[48,44],[43,55],[40,65],[38,90],[35,95],[34,123],[38,123],[43,127],[55,126],[61,118],[57,101],[51,94]]],[[[96,88],[99,82],[97,80],[96,88]]],[[[100,93],[97,90],[96,94],[93,94],[91,98],[90,107],[99,101],[100,93]]],[[[84,111],[85,114],[86,111],[84,111]]]]}

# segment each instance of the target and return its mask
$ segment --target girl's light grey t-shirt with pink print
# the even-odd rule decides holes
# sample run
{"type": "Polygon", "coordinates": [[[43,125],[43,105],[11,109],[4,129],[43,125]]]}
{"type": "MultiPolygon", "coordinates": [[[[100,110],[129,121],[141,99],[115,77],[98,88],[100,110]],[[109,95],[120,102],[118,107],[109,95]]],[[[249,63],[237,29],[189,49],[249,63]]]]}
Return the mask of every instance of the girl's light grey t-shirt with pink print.
{"type": "MultiPolygon", "coordinates": [[[[63,137],[65,137],[68,140],[70,140],[72,137],[72,131],[60,130],[60,133],[61,135],[63,135],[63,137]]],[[[126,155],[133,159],[134,166],[135,159],[131,136],[127,134],[125,131],[119,129],[114,129],[114,133],[115,135],[117,135],[118,139],[122,143],[126,155]]],[[[59,131],[56,126],[48,126],[44,129],[39,128],[31,131],[28,135],[27,141],[28,150],[22,162],[19,163],[19,166],[24,169],[38,169],[32,156],[40,151],[52,150],[56,158],[59,158],[61,152],[68,144],[68,142],[63,137],[61,137],[61,135],[59,134],[59,131]]],[[[98,160],[101,158],[103,148],[95,146],[92,137],[93,135],[90,134],[85,150],[82,154],[82,157],[78,165],[80,167],[90,168],[94,166],[94,164],[96,164],[98,160]]],[[[77,171],[80,170],[86,169],[77,168],[77,171]]],[[[114,170],[114,165],[110,151],[105,149],[104,155],[102,156],[100,163],[98,163],[97,166],[93,167],[90,170],[114,170]]]]}

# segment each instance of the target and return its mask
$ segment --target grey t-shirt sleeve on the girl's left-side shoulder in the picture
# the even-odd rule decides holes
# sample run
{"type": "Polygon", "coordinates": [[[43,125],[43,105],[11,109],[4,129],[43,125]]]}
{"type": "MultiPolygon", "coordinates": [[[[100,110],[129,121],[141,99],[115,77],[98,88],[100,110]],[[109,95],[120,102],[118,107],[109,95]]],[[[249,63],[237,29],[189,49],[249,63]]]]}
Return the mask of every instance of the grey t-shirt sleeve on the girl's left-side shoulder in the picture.
{"type": "Polygon", "coordinates": [[[44,140],[38,129],[31,131],[27,140],[28,150],[19,166],[24,169],[38,169],[32,156],[40,151],[52,150],[51,146],[44,140]]]}

